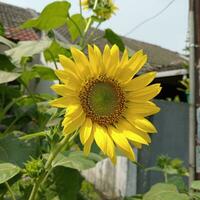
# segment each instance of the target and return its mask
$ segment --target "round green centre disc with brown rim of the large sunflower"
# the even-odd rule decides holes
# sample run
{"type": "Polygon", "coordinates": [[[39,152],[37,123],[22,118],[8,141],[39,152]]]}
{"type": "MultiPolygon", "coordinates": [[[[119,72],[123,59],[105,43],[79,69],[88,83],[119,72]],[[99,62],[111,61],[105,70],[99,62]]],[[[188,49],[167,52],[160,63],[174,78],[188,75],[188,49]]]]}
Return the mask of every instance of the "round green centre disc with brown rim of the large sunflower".
{"type": "Polygon", "coordinates": [[[125,98],[121,87],[104,76],[88,81],[79,97],[87,117],[103,126],[117,122],[124,110],[125,98]]]}

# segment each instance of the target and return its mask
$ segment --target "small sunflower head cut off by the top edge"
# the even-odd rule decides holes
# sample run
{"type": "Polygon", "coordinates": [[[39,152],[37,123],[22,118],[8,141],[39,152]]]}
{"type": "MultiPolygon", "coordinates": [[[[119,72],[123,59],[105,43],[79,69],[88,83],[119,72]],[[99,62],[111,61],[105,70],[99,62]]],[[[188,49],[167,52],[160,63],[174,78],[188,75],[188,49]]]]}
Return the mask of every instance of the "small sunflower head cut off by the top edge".
{"type": "Polygon", "coordinates": [[[91,9],[102,20],[109,19],[118,9],[112,0],[99,0],[95,6],[95,0],[83,0],[84,9],[91,9]]]}

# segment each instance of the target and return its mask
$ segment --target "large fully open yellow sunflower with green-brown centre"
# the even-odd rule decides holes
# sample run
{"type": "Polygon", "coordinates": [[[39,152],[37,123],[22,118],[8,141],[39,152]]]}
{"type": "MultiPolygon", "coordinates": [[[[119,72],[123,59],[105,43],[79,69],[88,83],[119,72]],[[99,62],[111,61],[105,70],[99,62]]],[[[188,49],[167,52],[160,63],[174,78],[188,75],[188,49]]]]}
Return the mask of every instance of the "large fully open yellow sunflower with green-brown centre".
{"type": "Polygon", "coordinates": [[[150,101],[161,90],[160,84],[149,85],[156,73],[132,79],[146,63],[147,55],[140,50],[129,59],[125,50],[120,58],[116,45],[106,45],[103,53],[89,45],[88,57],[74,47],[71,53],[73,60],[59,56],[63,70],[55,73],[62,84],[52,86],[62,97],[51,105],[66,109],[64,134],[79,130],[85,154],[95,140],[113,163],[116,148],[135,160],[130,143],[141,148],[151,142],[148,133],[157,130],[146,117],[160,110],[150,101]]]}

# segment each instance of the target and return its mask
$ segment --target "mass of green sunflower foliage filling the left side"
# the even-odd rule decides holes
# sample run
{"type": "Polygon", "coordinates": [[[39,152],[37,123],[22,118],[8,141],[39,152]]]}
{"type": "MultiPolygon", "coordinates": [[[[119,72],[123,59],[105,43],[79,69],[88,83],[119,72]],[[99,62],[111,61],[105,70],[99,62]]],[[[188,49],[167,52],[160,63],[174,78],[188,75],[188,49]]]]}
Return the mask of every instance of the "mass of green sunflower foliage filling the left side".
{"type": "MultiPolygon", "coordinates": [[[[0,199],[77,199],[83,181],[80,170],[103,159],[95,153],[84,156],[77,134],[63,137],[64,113],[49,105],[55,95],[34,91],[41,81],[58,80],[48,66],[33,64],[35,55],[44,55],[55,68],[59,54],[71,57],[74,45],[60,41],[55,29],[65,26],[71,41],[84,50],[105,21],[92,14],[85,18],[81,5],[80,13],[71,15],[70,7],[68,1],[53,2],[36,19],[21,25],[43,31],[39,41],[14,43],[3,37],[0,24],[0,43],[9,48],[0,54],[0,199]],[[96,28],[89,32],[91,26],[96,28]]],[[[116,43],[122,42],[112,34],[116,43]]]]}

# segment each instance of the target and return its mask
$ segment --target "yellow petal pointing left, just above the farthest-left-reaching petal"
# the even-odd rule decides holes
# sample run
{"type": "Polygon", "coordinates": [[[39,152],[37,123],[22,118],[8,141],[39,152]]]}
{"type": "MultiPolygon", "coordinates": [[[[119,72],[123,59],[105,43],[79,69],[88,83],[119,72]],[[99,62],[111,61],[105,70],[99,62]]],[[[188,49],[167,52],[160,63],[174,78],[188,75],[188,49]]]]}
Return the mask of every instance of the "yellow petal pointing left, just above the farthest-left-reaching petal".
{"type": "Polygon", "coordinates": [[[77,92],[75,92],[72,88],[68,87],[67,85],[55,84],[51,86],[51,89],[54,90],[57,94],[64,97],[77,96],[77,92]]]}

